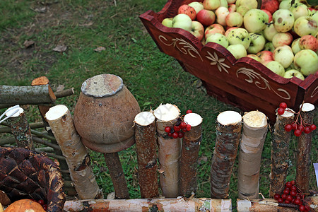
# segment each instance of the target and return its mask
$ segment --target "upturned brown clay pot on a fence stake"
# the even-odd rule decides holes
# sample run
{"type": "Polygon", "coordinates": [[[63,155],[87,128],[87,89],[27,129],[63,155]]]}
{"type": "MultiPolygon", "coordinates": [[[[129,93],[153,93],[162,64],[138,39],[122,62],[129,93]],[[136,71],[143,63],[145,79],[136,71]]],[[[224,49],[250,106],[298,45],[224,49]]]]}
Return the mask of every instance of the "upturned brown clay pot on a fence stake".
{"type": "Polygon", "coordinates": [[[134,117],[139,112],[139,104],[122,78],[101,74],[82,84],[74,124],[85,146],[115,153],[134,144],[134,117]]]}

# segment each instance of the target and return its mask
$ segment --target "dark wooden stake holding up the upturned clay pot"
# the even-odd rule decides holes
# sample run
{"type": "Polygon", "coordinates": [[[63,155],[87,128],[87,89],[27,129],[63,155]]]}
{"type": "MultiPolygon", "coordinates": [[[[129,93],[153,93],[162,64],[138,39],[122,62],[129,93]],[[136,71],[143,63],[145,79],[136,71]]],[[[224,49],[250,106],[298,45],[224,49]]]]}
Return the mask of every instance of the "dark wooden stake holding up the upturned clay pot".
{"type": "Polygon", "coordinates": [[[104,153],[104,158],[108,170],[110,171],[116,198],[129,199],[128,187],[118,153],[104,153]]]}

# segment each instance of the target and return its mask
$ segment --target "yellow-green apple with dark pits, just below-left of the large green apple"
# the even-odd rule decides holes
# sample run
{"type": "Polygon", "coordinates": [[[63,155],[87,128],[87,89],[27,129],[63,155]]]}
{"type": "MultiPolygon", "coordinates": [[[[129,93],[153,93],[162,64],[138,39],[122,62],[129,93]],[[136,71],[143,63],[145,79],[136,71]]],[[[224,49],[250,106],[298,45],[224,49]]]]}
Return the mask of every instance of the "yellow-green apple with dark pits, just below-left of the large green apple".
{"type": "Polygon", "coordinates": [[[249,33],[244,28],[235,28],[231,30],[226,37],[230,45],[241,44],[245,49],[247,49],[251,43],[249,33]]]}

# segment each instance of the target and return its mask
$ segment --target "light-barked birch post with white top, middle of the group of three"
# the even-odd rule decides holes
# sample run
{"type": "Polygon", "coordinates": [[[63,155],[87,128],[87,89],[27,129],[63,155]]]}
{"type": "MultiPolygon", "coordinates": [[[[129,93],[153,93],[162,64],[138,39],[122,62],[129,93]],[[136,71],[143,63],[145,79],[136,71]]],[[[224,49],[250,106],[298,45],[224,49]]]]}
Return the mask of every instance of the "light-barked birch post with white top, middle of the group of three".
{"type": "Polygon", "coordinates": [[[153,114],[157,118],[158,158],[160,163],[160,186],[163,196],[176,198],[179,195],[179,158],[181,139],[171,139],[165,133],[165,127],[173,125],[179,118],[179,109],[175,105],[160,105],[153,114]]]}

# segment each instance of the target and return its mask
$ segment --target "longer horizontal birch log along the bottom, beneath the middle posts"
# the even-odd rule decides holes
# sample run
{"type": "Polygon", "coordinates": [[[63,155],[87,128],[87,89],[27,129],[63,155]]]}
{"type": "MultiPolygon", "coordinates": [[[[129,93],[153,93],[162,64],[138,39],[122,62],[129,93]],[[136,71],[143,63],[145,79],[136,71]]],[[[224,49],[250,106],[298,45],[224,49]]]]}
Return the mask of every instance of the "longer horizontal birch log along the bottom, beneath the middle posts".
{"type": "Polygon", "coordinates": [[[64,210],[79,211],[232,211],[230,199],[87,199],[81,201],[66,201],[64,210]]]}

